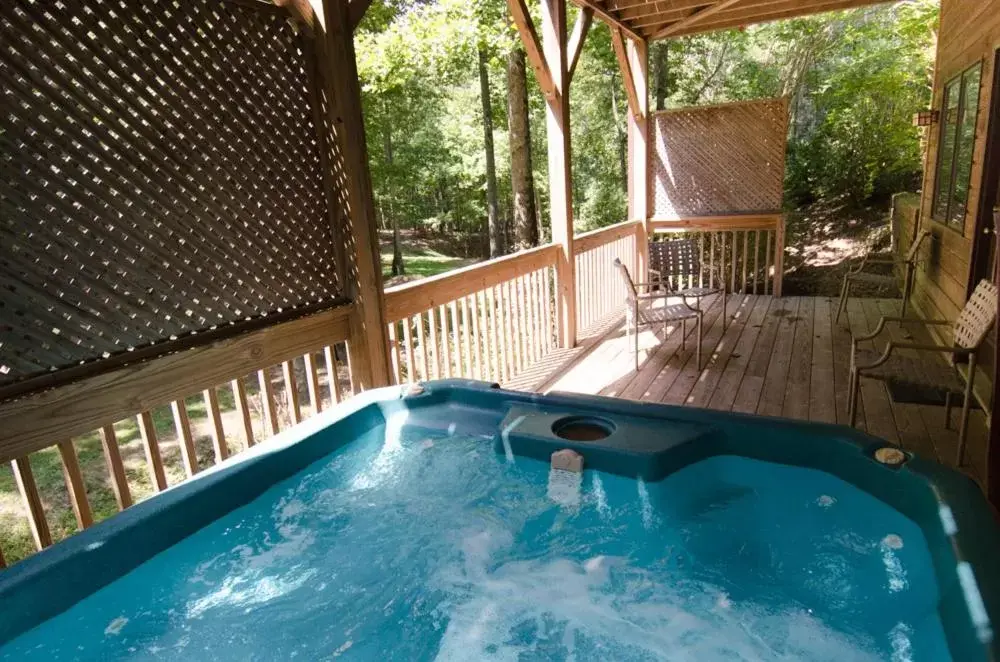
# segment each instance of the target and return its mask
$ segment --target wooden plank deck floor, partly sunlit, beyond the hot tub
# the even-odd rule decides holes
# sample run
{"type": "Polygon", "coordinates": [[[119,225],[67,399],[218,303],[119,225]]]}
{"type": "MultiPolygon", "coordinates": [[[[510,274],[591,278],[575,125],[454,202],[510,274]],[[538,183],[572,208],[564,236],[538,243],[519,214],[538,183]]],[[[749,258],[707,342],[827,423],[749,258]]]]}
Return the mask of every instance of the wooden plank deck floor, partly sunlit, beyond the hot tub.
{"type": "MultiPolygon", "coordinates": [[[[837,324],[835,299],[731,295],[732,323],[723,330],[716,299],[706,308],[702,370],[695,365],[693,336],[682,349],[679,329],[670,329],[665,339],[659,330],[643,331],[636,372],[625,327],[612,319],[592,329],[579,347],[550,354],[506,386],[846,425],[851,331],[860,335],[880,316],[898,315],[899,304],[898,299],[852,299],[837,324]]],[[[897,339],[929,341],[919,326],[890,327],[887,335],[897,339]]],[[[893,402],[884,385],[872,380],[862,382],[859,407],[858,428],[954,466],[957,410],[952,414],[956,429],[945,429],[944,407],[893,402]]],[[[963,469],[980,483],[986,438],[985,416],[976,409],[963,469]]]]}

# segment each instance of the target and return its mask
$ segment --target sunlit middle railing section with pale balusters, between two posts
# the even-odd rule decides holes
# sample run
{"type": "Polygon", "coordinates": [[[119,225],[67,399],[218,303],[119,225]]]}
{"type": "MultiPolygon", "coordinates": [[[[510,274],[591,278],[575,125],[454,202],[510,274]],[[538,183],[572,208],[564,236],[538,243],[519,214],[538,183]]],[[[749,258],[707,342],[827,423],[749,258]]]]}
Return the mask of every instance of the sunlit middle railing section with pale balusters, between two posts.
{"type": "Polygon", "coordinates": [[[396,383],[506,382],[555,344],[553,244],[385,292],[396,383]]]}

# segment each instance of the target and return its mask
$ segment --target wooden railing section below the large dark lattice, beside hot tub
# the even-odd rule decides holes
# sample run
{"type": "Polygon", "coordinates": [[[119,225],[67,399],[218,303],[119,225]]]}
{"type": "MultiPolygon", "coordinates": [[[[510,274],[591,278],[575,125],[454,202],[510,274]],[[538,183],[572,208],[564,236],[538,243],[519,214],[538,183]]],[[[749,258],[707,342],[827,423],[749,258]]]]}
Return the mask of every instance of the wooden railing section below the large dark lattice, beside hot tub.
{"type": "Polygon", "coordinates": [[[0,567],[349,396],[351,308],[4,404],[0,463],[13,475],[0,484],[13,479],[27,526],[3,518],[0,567]]]}

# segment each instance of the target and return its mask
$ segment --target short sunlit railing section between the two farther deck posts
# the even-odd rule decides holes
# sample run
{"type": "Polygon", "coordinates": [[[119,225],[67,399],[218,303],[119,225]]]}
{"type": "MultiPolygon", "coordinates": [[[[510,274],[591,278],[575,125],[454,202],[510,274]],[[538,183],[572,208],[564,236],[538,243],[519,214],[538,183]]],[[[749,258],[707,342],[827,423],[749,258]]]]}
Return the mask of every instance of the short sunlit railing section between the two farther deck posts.
{"type": "Polygon", "coordinates": [[[637,238],[640,221],[628,221],[577,236],[573,242],[576,259],[576,328],[586,330],[622,310],[624,290],[615,273],[618,258],[636,281],[637,238]]]}

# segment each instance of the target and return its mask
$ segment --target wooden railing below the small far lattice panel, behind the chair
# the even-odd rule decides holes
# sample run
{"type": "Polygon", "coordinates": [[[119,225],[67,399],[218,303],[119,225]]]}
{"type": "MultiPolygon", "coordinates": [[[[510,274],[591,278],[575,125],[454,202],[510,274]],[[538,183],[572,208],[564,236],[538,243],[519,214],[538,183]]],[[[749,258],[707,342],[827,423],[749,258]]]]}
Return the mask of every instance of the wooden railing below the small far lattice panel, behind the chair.
{"type": "Polygon", "coordinates": [[[720,271],[730,292],[781,296],[785,247],[781,214],[654,219],[650,225],[655,235],[668,235],[664,238],[697,238],[702,264],[720,271]]]}

